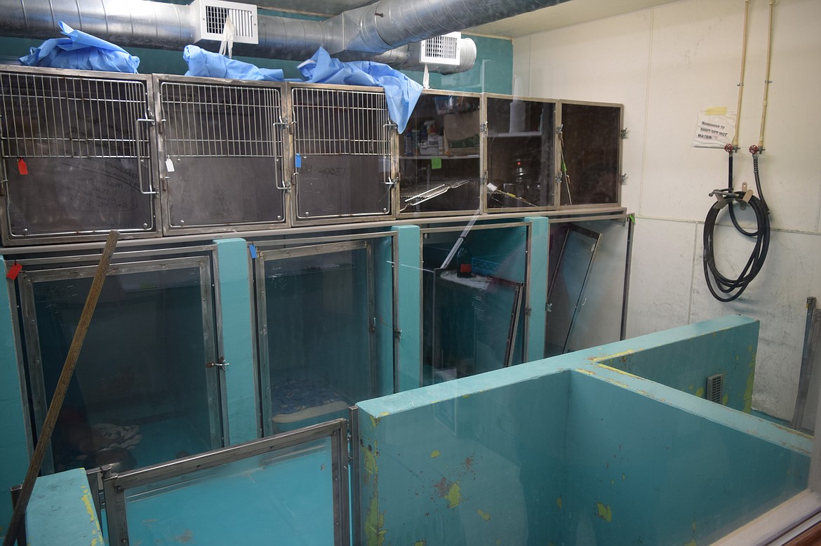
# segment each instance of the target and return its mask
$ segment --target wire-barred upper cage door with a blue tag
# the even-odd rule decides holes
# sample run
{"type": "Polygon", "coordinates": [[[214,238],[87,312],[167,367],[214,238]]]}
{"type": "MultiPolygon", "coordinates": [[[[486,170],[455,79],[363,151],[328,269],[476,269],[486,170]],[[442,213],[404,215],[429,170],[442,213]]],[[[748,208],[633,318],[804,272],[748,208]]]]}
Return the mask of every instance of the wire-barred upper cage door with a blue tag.
{"type": "Polygon", "coordinates": [[[291,89],[298,219],[391,213],[391,122],[383,91],[291,89]]]}

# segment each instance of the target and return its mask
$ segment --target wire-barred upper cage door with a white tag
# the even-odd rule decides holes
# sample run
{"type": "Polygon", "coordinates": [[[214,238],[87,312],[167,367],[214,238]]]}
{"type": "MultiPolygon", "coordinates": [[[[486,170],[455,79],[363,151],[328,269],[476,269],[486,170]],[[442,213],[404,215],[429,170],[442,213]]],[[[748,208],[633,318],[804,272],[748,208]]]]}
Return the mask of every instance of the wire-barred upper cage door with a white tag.
{"type": "Polygon", "coordinates": [[[169,226],[284,222],[280,89],[165,81],[159,96],[169,226]]]}

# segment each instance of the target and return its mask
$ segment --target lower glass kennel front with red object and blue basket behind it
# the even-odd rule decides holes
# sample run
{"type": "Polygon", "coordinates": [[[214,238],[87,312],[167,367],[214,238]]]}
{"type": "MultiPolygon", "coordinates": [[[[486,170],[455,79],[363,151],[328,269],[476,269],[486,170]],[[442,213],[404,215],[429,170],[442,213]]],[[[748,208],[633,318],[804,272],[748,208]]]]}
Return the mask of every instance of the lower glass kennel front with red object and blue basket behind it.
{"type": "Polygon", "coordinates": [[[423,383],[525,361],[526,228],[424,234],[423,383]]]}

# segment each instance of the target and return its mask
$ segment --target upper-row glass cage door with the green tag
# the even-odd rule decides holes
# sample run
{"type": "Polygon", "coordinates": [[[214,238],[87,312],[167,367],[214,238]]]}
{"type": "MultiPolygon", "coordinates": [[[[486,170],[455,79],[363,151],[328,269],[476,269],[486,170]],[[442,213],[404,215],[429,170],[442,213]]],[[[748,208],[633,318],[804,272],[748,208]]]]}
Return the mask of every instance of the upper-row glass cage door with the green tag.
{"type": "Polygon", "coordinates": [[[479,95],[425,91],[400,135],[399,212],[479,209],[479,95]]]}

